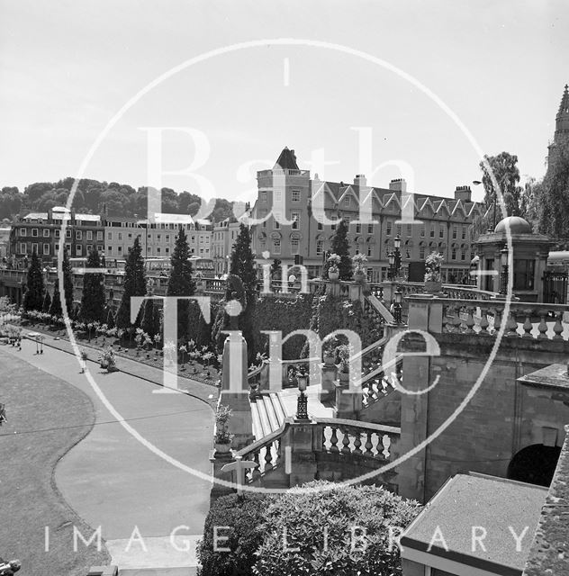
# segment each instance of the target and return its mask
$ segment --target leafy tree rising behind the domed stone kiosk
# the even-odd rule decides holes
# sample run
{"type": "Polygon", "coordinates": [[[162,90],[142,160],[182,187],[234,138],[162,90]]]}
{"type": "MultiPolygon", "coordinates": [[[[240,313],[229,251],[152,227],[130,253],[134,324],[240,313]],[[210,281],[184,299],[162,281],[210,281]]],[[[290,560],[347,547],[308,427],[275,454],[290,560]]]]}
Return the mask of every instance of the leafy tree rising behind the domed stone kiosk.
{"type": "MultiPolygon", "coordinates": [[[[496,178],[496,182],[500,186],[502,197],[506,205],[508,216],[524,216],[523,211],[523,188],[519,186],[519,168],[518,157],[508,152],[501,152],[497,156],[484,156],[492,168],[492,174],[496,178]]],[[[482,170],[482,183],[484,186],[484,203],[486,206],[491,206],[496,199],[500,202],[498,193],[495,190],[492,182],[492,175],[488,171],[484,162],[480,163],[482,170]]],[[[501,220],[500,203],[496,204],[496,222],[501,220]]],[[[492,223],[493,223],[493,209],[492,209],[492,223]]]]}

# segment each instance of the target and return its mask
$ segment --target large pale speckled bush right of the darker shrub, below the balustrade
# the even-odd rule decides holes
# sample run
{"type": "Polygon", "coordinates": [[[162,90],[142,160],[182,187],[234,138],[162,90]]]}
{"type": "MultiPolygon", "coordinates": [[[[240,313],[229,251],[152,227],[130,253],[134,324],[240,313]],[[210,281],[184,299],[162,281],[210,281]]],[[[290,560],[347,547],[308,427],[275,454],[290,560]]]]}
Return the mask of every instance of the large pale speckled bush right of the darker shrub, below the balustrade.
{"type": "Polygon", "coordinates": [[[263,543],[257,550],[253,574],[401,574],[399,548],[391,545],[390,536],[395,539],[400,530],[409,526],[420,512],[419,503],[375,486],[335,485],[331,490],[328,482],[306,486],[327,490],[292,490],[266,503],[260,527],[263,543]],[[390,527],[394,534],[390,535],[390,527]],[[287,548],[299,548],[297,552],[285,550],[285,536],[287,548]]]}

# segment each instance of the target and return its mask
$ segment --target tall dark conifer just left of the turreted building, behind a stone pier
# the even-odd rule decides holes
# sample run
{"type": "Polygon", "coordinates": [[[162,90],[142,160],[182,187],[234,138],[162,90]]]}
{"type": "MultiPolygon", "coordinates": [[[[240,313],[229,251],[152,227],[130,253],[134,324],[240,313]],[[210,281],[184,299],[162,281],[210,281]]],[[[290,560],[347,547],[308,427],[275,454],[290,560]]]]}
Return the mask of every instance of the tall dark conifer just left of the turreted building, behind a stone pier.
{"type": "Polygon", "coordinates": [[[239,234],[231,250],[230,274],[239,276],[247,294],[245,311],[239,316],[239,329],[247,342],[250,364],[257,356],[259,342],[258,329],[254,321],[257,307],[257,269],[251,251],[251,231],[245,224],[239,225],[239,234]]]}

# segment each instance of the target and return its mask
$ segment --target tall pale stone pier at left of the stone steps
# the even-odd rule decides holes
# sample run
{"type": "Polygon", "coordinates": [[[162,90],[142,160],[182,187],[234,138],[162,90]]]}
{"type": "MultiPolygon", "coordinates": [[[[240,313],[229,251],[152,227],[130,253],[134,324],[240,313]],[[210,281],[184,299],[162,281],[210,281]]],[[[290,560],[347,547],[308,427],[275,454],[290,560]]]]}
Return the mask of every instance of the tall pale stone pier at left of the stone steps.
{"type": "Polygon", "coordinates": [[[232,447],[240,450],[253,442],[253,421],[248,398],[247,342],[239,330],[230,330],[223,345],[223,372],[219,404],[229,406],[232,447]]]}

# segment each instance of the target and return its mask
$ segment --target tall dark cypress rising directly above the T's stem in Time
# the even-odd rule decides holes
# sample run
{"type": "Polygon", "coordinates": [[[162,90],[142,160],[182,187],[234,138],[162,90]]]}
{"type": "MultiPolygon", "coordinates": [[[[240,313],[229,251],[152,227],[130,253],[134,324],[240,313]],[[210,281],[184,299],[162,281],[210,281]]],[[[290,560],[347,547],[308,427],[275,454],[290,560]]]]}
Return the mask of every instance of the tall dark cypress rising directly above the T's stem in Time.
{"type": "MultiPolygon", "coordinates": [[[[180,228],[176,236],[176,246],[170,258],[172,266],[168,280],[167,296],[192,296],[195,292],[195,282],[192,278],[194,272],[190,262],[190,248],[184,229],[180,228]]],[[[177,335],[178,338],[188,338],[188,311],[189,302],[180,301],[177,305],[177,335]]]]}

